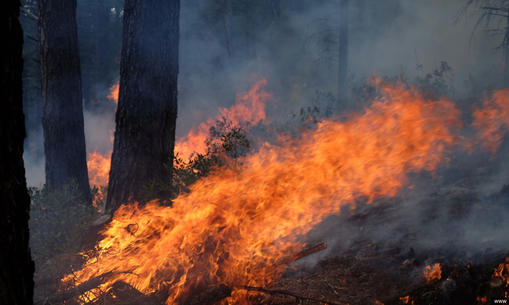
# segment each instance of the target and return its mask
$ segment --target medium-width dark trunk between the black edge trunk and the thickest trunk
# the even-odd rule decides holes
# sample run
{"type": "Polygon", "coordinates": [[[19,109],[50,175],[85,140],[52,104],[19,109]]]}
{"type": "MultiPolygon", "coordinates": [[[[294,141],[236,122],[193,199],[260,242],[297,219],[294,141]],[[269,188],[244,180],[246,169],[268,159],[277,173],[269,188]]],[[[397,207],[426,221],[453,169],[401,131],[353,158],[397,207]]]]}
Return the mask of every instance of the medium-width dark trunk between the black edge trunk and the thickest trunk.
{"type": "Polygon", "coordinates": [[[87,173],[76,0],[39,1],[42,126],[46,186],[59,189],[75,179],[92,204],[87,173]]]}

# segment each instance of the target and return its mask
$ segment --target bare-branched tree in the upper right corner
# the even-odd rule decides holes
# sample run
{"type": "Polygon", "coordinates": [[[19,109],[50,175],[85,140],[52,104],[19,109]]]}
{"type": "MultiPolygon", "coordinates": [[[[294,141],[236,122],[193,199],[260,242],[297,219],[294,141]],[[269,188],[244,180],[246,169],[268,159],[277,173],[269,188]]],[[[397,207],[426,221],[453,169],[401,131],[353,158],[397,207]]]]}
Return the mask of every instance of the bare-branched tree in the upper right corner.
{"type": "Polygon", "coordinates": [[[509,0],[468,0],[456,16],[456,22],[467,17],[469,8],[471,15],[478,15],[470,42],[475,42],[474,33],[484,24],[485,33],[491,37],[502,37],[498,48],[503,53],[503,85],[509,86],[509,0]]]}

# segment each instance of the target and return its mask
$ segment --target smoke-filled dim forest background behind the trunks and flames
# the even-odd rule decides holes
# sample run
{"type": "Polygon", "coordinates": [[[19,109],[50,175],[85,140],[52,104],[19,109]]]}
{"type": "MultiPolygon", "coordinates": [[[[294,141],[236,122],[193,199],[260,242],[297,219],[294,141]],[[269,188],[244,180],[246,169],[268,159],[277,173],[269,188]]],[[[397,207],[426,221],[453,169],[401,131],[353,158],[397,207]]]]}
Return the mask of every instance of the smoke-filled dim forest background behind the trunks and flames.
{"type": "MultiPolygon", "coordinates": [[[[24,159],[31,173],[28,184],[41,187],[44,150],[35,20],[38,2],[21,3],[27,129],[24,159]]],[[[355,108],[365,98],[364,86],[373,74],[435,84],[440,86],[440,94],[457,101],[502,86],[501,43],[506,21],[491,19],[476,24],[480,14],[473,5],[461,11],[468,2],[431,3],[350,2],[350,104],[340,108],[355,108]],[[497,26],[500,33],[487,32],[497,26]]],[[[109,130],[115,126],[116,106],[107,96],[108,88],[119,80],[123,1],[82,0],[77,2],[76,12],[87,151],[104,154],[111,147],[109,130]]],[[[256,77],[267,78],[267,89],[277,100],[269,113],[272,117],[313,108],[321,103],[323,94],[337,99],[340,12],[340,1],[183,1],[177,136],[199,125],[210,113],[217,113],[218,107],[231,106],[235,96],[246,92],[256,77]]]]}

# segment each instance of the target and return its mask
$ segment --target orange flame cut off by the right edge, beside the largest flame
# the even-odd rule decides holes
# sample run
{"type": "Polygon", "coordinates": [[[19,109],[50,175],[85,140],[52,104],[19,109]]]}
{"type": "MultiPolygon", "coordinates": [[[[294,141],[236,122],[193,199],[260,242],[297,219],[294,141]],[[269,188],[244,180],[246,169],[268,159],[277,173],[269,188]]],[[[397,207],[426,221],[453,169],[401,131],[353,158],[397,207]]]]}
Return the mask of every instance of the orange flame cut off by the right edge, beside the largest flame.
{"type": "Polygon", "coordinates": [[[481,144],[495,154],[503,136],[509,131],[509,88],[497,90],[473,113],[481,144]]]}

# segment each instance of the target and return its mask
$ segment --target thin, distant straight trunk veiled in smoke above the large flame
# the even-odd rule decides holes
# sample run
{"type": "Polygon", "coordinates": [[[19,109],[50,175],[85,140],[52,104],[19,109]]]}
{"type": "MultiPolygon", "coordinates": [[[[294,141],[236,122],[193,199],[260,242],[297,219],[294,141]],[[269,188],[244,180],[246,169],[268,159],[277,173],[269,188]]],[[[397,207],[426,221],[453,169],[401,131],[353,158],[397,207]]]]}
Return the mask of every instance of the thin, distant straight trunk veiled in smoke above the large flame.
{"type": "Polygon", "coordinates": [[[348,102],[348,0],[340,4],[340,56],[337,78],[338,107],[344,108],[348,102]]]}

